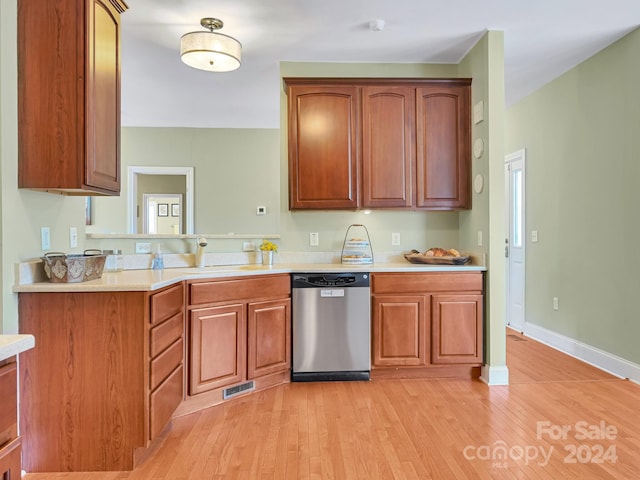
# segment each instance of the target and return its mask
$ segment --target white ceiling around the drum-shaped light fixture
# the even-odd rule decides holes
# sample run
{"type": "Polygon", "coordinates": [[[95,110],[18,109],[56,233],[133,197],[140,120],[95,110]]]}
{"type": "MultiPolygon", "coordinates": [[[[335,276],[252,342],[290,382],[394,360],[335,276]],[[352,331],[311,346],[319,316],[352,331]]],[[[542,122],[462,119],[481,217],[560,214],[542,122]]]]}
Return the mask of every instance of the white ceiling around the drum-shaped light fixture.
{"type": "Polygon", "coordinates": [[[507,105],[640,25],[640,0],[127,0],[123,126],[278,128],[279,62],[458,63],[504,32],[507,105]],[[210,73],[179,59],[202,17],[243,45],[210,73]],[[369,21],[383,19],[382,31],[369,21]]]}

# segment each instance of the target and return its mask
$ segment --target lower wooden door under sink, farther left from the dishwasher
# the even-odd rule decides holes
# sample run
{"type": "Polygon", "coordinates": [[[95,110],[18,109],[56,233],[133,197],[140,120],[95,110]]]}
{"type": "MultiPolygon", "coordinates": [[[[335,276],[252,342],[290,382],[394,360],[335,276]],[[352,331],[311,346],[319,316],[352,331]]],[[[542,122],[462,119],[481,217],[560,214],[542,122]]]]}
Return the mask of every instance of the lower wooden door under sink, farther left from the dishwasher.
{"type": "Polygon", "coordinates": [[[189,393],[246,379],[246,306],[233,304],[191,310],[189,393]]]}

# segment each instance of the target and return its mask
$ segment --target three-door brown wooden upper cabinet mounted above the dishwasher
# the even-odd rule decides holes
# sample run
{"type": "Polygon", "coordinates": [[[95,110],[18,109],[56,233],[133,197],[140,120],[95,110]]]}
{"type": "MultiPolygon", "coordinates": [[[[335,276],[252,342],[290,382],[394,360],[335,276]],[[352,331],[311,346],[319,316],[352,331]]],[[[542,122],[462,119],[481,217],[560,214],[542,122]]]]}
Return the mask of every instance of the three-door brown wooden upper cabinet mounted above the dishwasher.
{"type": "Polygon", "coordinates": [[[289,208],[471,208],[470,79],[287,78],[289,208]]]}

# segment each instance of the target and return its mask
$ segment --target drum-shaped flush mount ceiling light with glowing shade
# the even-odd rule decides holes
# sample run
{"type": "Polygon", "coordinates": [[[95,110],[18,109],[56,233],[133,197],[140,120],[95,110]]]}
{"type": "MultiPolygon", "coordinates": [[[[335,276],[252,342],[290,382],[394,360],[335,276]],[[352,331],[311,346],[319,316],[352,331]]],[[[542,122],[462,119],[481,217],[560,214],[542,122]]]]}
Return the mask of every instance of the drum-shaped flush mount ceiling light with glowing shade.
{"type": "Polygon", "coordinates": [[[235,38],[215,30],[224,23],[217,18],[203,18],[200,25],[208,32],[186,33],[180,39],[180,58],[193,68],[210,72],[230,72],[240,66],[242,45],[235,38]]]}

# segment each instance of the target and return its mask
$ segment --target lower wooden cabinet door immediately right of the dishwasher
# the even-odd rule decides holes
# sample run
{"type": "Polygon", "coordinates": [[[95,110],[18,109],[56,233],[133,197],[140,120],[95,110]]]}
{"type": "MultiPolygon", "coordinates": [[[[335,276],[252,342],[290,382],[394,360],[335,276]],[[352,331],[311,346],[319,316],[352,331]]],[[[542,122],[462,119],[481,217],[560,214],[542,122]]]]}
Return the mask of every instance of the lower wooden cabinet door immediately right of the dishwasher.
{"type": "Polygon", "coordinates": [[[425,364],[427,309],[423,295],[374,296],[374,367],[425,364]]]}

